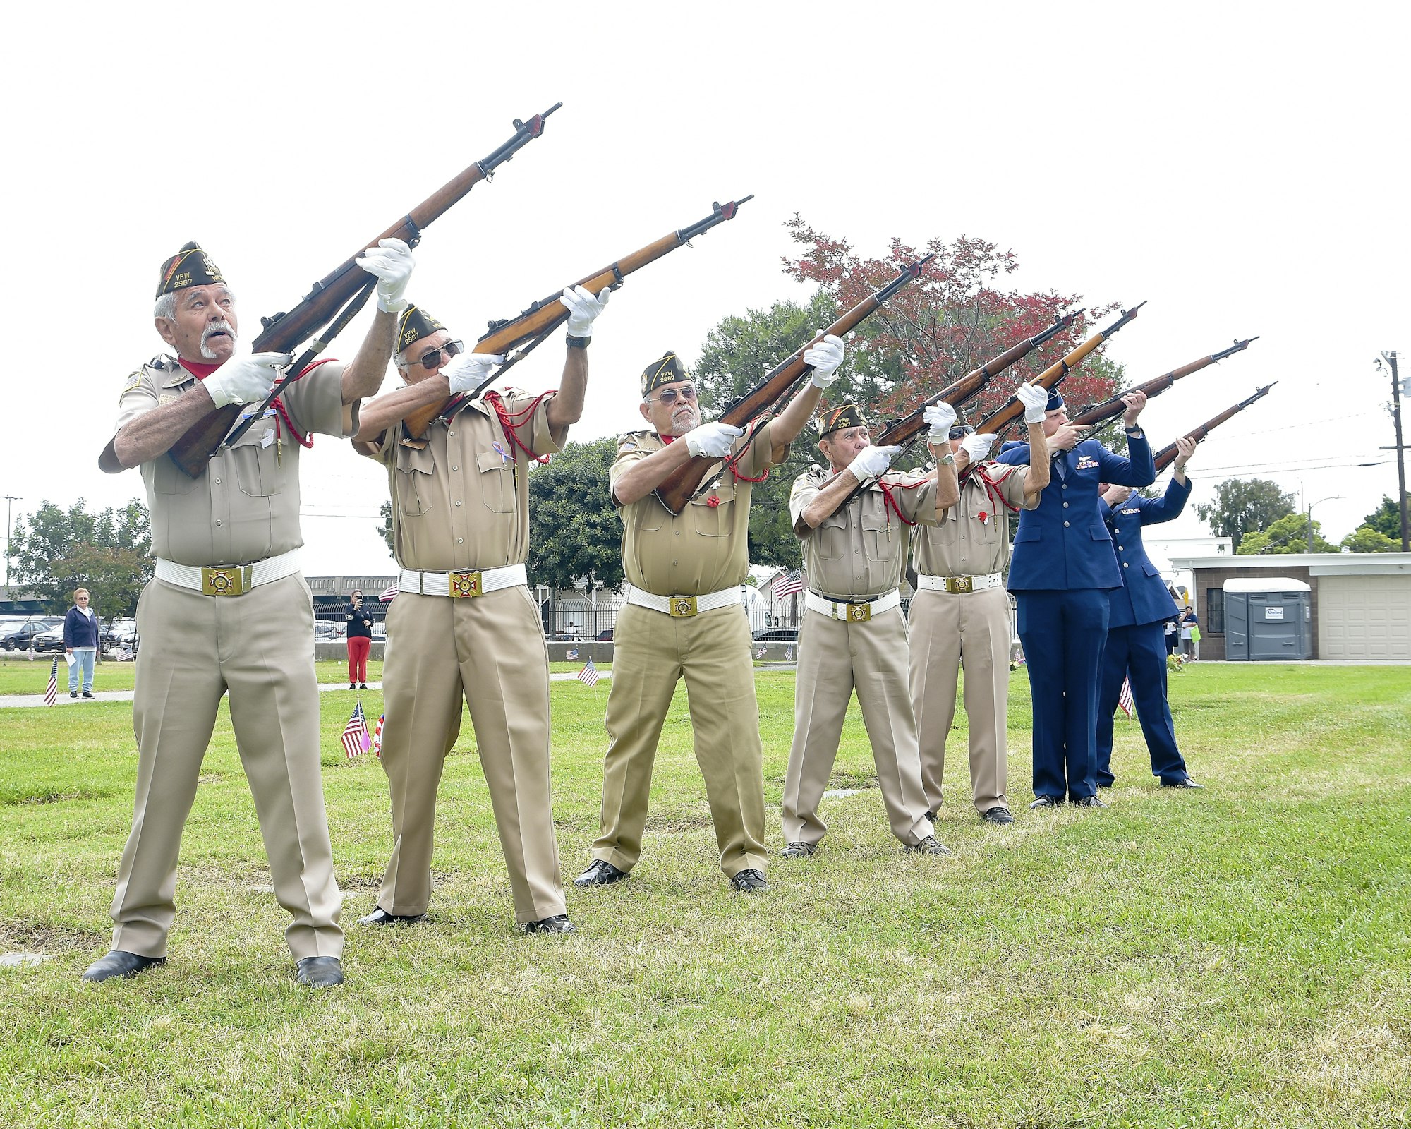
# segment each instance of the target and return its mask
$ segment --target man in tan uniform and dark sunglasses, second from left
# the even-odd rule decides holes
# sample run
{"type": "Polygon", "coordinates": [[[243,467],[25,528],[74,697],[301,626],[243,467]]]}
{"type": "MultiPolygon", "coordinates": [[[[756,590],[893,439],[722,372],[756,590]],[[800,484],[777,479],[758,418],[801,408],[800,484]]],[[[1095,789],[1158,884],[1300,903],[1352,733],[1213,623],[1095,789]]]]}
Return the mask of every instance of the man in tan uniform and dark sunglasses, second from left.
{"type": "Polygon", "coordinates": [[[515,920],[571,933],[549,797],[549,655],[529,596],[529,467],[559,450],[583,415],[593,322],[608,301],[579,286],[557,392],[478,391],[504,357],[463,353],[425,310],[402,316],[406,388],[363,411],[354,447],[387,466],[399,593],[387,612],[382,768],[392,857],[361,924],[413,922],[430,900],[436,790],[470,707],[509,869],[515,920]],[[452,360],[454,357],[454,360],[452,360]],[[420,437],[402,422],[456,395],[420,437]]]}

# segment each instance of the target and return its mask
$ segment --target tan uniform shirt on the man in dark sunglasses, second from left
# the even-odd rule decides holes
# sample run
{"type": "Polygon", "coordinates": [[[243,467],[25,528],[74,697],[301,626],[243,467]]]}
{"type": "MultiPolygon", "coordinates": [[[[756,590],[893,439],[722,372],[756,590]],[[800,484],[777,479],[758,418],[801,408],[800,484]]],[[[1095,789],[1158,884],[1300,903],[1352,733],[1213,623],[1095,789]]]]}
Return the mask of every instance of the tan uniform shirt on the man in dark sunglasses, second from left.
{"type": "MultiPolygon", "coordinates": [[[[499,397],[533,456],[559,450],[549,429],[549,401],[518,390],[499,397]]],[[[505,433],[484,397],[449,421],[437,419],[423,439],[384,433],[378,456],[392,494],[392,538],[404,569],[452,572],[522,564],[529,556],[529,460],[505,433]],[[415,443],[416,446],[412,446],[415,443]]]]}

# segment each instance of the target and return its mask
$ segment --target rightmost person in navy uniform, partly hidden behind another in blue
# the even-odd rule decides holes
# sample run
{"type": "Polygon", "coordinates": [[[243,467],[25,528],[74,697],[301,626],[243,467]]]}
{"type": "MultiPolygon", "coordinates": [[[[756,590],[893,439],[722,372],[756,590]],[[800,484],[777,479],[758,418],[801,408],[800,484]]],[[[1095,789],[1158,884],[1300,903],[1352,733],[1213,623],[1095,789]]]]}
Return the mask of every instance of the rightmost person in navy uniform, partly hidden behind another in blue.
{"type": "Polygon", "coordinates": [[[1195,440],[1177,439],[1175,446],[1175,473],[1164,497],[1143,498],[1125,485],[1109,485],[1098,502],[1122,564],[1122,587],[1108,590],[1108,645],[1098,690],[1098,787],[1112,787],[1112,714],[1123,679],[1132,684],[1132,700],[1151,754],[1151,773],[1165,787],[1201,787],[1185,771],[1185,759],[1175,747],[1175,725],[1165,697],[1165,624],[1177,615],[1177,607],[1141,543],[1143,525],[1174,521],[1191,497],[1185,464],[1195,440]]]}

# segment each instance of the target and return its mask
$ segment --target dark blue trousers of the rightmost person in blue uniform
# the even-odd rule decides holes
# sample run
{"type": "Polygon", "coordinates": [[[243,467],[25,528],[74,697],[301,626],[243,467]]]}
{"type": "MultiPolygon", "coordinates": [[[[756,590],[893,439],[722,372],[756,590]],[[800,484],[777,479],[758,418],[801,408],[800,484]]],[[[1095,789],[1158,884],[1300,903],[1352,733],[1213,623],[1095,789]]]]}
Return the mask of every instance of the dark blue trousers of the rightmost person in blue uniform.
{"type": "Polygon", "coordinates": [[[1112,713],[1122,696],[1122,679],[1132,682],[1141,735],[1151,754],[1151,773],[1163,783],[1187,778],[1185,761],[1175,747],[1175,725],[1165,700],[1165,634],[1161,622],[1115,627],[1102,653],[1102,689],[1098,693],[1098,786],[1112,786],[1112,713]]]}

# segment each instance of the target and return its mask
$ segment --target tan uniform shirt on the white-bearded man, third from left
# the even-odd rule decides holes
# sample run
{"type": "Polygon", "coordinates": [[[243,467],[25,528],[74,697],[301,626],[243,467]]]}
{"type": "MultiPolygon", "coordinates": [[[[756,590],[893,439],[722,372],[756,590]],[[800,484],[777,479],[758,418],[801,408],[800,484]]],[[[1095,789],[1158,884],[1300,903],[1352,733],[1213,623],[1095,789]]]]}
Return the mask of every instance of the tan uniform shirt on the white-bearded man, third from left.
{"type": "MultiPolygon", "coordinates": [[[[756,478],[773,460],[773,423],[761,425],[735,440],[731,453],[745,447],[735,470],[756,478]]],[[[676,440],[682,442],[680,439],[676,440]]],[[[608,471],[612,487],[634,463],[666,443],[656,432],[631,432],[622,436],[618,456],[608,471]]],[[[618,509],[622,517],[622,564],[626,579],[658,596],[703,596],[744,584],[749,574],[749,495],[753,483],[737,477],[715,463],[701,490],[680,514],[672,514],[655,494],[638,498],[618,509]],[[718,477],[717,471],[720,471],[718,477]]]]}

